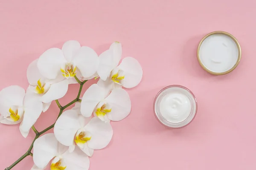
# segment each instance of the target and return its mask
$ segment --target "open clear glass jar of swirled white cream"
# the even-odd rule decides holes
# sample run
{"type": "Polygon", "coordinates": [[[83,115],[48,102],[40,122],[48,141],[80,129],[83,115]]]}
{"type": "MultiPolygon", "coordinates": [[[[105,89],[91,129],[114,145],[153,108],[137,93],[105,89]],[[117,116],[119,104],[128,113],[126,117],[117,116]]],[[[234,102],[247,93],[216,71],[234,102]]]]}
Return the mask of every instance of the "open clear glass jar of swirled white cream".
{"type": "Polygon", "coordinates": [[[153,109],[157,120],[166,127],[184,127],[195,118],[197,101],[189,89],[170,85],[158,92],[153,109]]]}

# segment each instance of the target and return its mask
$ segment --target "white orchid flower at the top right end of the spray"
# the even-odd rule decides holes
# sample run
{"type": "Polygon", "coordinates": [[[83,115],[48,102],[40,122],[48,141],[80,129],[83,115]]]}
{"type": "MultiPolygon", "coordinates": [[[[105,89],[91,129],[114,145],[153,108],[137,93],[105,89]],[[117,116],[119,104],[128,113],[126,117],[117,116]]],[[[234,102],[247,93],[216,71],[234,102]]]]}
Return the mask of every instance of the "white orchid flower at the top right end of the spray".
{"type": "Polygon", "coordinates": [[[122,45],[120,42],[113,42],[109,50],[99,55],[97,73],[100,77],[98,82],[100,86],[111,90],[122,86],[133,88],[140,83],[143,75],[140,63],[137,59],[126,57],[119,64],[121,56],[122,45]]]}

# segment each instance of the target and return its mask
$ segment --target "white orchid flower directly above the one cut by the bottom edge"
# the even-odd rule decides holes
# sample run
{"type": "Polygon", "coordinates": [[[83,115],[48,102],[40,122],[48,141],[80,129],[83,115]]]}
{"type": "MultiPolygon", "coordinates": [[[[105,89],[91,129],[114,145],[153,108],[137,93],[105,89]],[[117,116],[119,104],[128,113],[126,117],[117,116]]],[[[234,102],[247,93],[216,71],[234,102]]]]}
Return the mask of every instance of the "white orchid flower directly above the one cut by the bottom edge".
{"type": "Polygon", "coordinates": [[[78,108],[67,110],[61,114],[54,126],[54,134],[58,142],[69,147],[73,152],[75,144],[88,156],[94,150],[99,150],[108,145],[113,136],[109,122],[102,122],[97,117],[84,118],[79,114],[78,108]]]}

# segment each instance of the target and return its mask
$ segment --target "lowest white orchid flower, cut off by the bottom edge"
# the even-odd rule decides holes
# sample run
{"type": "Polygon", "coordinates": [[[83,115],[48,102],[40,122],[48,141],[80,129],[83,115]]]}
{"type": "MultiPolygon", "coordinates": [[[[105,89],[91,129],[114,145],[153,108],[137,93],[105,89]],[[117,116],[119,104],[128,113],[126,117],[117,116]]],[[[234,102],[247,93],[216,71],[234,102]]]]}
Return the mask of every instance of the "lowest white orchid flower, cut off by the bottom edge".
{"type": "Polygon", "coordinates": [[[51,161],[51,170],[88,170],[89,158],[78,147],[72,153],[60,144],[53,133],[35,140],[32,170],[44,170],[51,161]]]}

